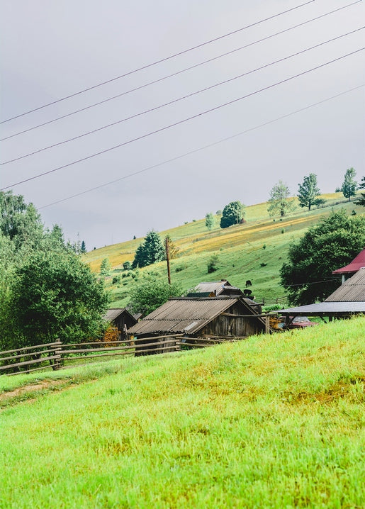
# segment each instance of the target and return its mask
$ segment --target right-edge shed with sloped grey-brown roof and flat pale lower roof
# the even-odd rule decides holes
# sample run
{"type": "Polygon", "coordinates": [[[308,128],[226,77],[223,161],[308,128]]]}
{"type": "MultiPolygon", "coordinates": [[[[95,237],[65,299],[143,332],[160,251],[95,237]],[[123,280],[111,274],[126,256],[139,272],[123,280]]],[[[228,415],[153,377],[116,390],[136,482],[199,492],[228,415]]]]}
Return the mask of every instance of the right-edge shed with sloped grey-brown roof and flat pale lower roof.
{"type": "Polygon", "coordinates": [[[324,302],[283,309],[280,313],[287,318],[327,316],[330,320],[365,313],[365,267],[347,279],[324,302]]]}

